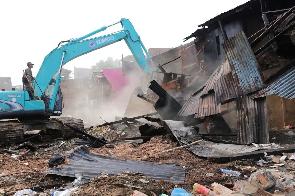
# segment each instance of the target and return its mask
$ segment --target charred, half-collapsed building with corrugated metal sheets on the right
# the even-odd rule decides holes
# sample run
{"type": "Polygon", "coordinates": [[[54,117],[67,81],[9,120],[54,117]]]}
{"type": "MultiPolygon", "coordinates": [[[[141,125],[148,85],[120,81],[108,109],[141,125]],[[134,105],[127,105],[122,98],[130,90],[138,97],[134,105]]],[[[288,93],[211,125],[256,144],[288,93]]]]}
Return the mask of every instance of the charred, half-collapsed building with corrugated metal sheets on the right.
{"type": "Polygon", "coordinates": [[[245,144],[268,143],[269,128],[294,124],[293,6],[293,1],[248,1],[200,24],[185,38],[195,40],[174,54],[168,51],[172,55],[165,62],[157,61],[164,53],[155,56],[166,75],[158,83],[186,100],[178,115],[203,119],[208,133],[237,131],[238,142],[245,144]],[[180,66],[174,66],[177,61],[180,66]],[[178,95],[166,87],[167,77],[187,79],[183,85],[173,81],[178,95]],[[183,93],[186,87],[192,94],[183,93]]]}

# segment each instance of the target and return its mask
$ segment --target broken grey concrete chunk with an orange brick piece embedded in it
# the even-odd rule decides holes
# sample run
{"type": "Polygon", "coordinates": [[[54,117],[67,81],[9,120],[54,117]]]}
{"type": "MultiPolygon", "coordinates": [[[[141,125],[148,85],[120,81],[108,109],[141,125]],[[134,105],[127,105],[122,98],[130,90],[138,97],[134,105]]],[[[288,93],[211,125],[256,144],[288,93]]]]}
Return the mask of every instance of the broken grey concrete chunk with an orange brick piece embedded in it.
{"type": "MultiPolygon", "coordinates": [[[[249,177],[250,185],[253,185],[253,186],[256,186],[256,187],[260,187],[263,190],[268,190],[271,187],[274,187],[276,185],[276,179],[277,179],[277,177],[271,173],[271,170],[272,169],[270,169],[270,170],[268,170],[268,169],[261,169],[261,170],[258,170],[256,172],[254,172],[249,177]]],[[[274,171],[278,171],[278,170],[274,170],[274,171]]]]}

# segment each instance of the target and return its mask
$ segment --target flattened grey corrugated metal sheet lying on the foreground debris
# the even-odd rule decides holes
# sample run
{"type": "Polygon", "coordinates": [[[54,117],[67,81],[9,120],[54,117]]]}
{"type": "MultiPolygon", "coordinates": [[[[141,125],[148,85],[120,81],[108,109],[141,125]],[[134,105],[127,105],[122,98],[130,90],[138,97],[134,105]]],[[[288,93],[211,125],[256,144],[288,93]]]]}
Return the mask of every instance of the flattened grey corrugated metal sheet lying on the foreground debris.
{"type": "Polygon", "coordinates": [[[84,179],[92,179],[101,172],[110,176],[125,171],[139,172],[155,180],[164,180],[173,183],[183,183],[185,171],[176,165],[143,162],[130,159],[120,159],[101,154],[90,153],[86,146],[80,146],[67,156],[71,161],[63,167],[49,168],[42,172],[61,176],[75,177],[82,175],[84,179]]]}

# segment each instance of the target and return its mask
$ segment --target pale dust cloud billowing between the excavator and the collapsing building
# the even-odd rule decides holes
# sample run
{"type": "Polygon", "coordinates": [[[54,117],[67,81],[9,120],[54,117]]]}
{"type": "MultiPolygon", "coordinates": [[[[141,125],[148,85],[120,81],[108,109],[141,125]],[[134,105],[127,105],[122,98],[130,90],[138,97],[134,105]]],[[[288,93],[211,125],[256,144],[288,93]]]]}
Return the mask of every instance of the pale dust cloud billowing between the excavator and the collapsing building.
{"type": "MultiPolygon", "coordinates": [[[[138,76],[140,75],[137,75],[137,77],[126,77],[126,85],[119,91],[112,92],[109,100],[104,101],[104,103],[101,100],[90,100],[87,96],[87,91],[83,92],[86,95],[78,91],[77,95],[72,96],[70,100],[65,100],[64,95],[64,105],[66,107],[63,109],[62,117],[72,116],[83,119],[85,127],[88,125],[103,124],[105,123],[104,120],[112,122],[116,116],[123,117],[132,92],[140,86],[138,76]],[[70,103],[66,103],[66,101],[70,103]]],[[[62,91],[67,91],[67,89],[62,89],[62,91]]]]}

